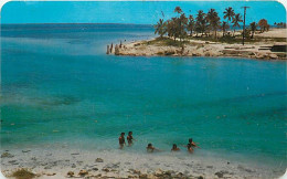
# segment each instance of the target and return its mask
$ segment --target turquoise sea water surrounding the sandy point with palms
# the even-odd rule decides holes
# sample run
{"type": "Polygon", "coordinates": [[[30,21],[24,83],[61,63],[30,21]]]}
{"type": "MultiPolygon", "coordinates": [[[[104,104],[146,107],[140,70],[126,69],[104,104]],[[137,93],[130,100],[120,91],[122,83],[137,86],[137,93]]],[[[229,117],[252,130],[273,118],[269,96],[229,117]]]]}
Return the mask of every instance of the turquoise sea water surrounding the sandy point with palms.
{"type": "Polygon", "coordinates": [[[192,137],[203,156],[287,165],[286,62],[105,54],[152,36],[137,25],[2,27],[1,148],[115,149],[132,130],[135,152],[192,137]]]}

